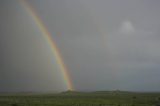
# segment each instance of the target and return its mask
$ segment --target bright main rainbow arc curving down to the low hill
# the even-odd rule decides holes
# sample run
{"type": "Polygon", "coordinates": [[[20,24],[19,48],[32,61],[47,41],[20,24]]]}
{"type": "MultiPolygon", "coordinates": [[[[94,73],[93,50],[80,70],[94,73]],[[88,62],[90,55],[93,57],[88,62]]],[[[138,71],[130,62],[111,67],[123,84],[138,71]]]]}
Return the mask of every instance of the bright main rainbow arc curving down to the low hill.
{"type": "Polygon", "coordinates": [[[23,7],[26,9],[28,14],[33,18],[35,24],[38,26],[39,30],[41,31],[44,39],[46,39],[46,42],[48,42],[48,45],[50,46],[50,48],[53,52],[53,55],[56,58],[56,62],[59,65],[64,82],[67,86],[67,89],[74,90],[69,71],[67,70],[65,63],[63,62],[60,51],[58,50],[57,45],[56,45],[54,39],[52,38],[51,33],[47,30],[47,28],[43,24],[41,18],[36,14],[36,11],[33,9],[33,7],[30,6],[29,3],[26,2],[26,0],[19,0],[19,1],[23,5],[23,7]]]}

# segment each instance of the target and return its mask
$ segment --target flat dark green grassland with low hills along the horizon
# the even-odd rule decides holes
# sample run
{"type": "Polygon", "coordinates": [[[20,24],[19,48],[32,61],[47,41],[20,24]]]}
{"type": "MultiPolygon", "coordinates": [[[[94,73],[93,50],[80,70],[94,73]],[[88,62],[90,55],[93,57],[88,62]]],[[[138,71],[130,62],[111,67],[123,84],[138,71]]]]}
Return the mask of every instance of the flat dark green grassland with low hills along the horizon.
{"type": "Polygon", "coordinates": [[[120,91],[1,95],[0,106],[160,106],[160,93],[120,91]]]}

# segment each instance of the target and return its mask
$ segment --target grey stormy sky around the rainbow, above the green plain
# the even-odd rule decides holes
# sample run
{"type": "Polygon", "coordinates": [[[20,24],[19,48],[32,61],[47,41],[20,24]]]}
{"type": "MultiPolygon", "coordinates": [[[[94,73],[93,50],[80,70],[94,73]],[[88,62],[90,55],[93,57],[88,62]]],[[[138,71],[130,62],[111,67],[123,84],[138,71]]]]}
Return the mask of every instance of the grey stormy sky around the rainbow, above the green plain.
{"type": "MultiPolygon", "coordinates": [[[[159,0],[26,0],[80,91],[160,91],[159,0]]],[[[0,1],[0,91],[66,90],[19,0],[0,1]]]]}

